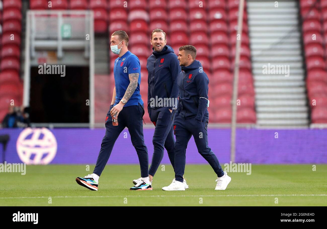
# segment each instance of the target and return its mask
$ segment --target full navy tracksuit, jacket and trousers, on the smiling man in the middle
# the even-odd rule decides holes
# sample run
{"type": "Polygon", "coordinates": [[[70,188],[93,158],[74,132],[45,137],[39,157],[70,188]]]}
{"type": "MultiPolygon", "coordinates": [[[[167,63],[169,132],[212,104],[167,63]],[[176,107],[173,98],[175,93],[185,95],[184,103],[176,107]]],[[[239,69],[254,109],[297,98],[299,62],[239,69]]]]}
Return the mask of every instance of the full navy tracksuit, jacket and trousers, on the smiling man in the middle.
{"type": "Polygon", "coordinates": [[[172,166],[175,165],[173,121],[177,107],[177,77],[181,67],[172,47],[165,45],[161,52],[153,49],[147,59],[146,68],[148,70],[147,108],[150,120],[155,125],[152,139],[154,150],[149,174],[154,176],[163,158],[163,148],[166,148],[172,166]],[[151,103],[159,98],[170,98],[171,103],[165,106],[151,103]],[[169,109],[172,110],[171,113],[169,109]]]}

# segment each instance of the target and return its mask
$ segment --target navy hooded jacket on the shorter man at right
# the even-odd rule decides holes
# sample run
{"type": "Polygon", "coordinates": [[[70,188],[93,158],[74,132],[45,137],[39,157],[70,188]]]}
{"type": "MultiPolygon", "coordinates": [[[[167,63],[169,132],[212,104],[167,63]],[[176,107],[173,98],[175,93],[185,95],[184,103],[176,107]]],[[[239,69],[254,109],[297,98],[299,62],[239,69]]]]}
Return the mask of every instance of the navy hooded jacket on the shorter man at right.
{"type": "Polygon", "coordinates": [[[179,100],[176,115],[185,119],[193,118],[202,122],[209,119],[207,109],[209,79],[203,71],[202,65],[195,60],[189,66],[182,66],[178,77],[179,100]],[[204,97],[204,98],[200,98],[204,97]]]}

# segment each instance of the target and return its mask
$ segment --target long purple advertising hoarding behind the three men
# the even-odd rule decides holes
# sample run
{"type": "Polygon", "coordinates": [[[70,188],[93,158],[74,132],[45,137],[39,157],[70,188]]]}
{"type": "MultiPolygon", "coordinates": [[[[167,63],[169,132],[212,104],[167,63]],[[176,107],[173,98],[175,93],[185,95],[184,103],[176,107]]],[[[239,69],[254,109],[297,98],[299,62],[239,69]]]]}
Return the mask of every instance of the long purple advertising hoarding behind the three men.
{"type": "MultiPolygon", "coordinates": [[[[154,129],[144,129],[151,162],[154,129]]],[[[95,164],[105,129],[1,129],[9,134],[5,161],[27,164],[95,164]]],[[[230,162],[229,129],[208,129],[209,147],[221,164],[230,162]]],[[[3,149],[0,146],[0,159],[3,149]]],[[[237,129],[236,163],[304,164],[327,163],[327,130],[237,129]]],[[[119,135],[108,164],[138,164],[128,129],[119,135]]],[[[186,150],[186,163],[205,164],[193,137],[186,150]]],[[[162,164],[170,164],[165,150],[162,164]]]]}

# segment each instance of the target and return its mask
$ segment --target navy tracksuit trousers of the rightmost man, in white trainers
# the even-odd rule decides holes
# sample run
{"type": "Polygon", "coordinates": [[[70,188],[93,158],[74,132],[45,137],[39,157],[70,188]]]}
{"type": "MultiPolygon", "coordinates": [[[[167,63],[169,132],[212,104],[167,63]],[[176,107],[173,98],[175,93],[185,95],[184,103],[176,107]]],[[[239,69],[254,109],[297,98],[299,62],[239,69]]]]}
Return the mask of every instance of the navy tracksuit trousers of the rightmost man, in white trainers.
{"type": "Polygon", "coordinates": [[[202,122],[197,119],[184,119],[177,115],[174,121],[174,133],[176,136],[175,143],[175,179],[183,182],[183,175],[185,170],[185,153],[188,141],[193,135],[198,152],[209,162],[218,177],[224,175],[218,159],[214,152],[208,147],[208,121],[203,118],[202,122]]]}

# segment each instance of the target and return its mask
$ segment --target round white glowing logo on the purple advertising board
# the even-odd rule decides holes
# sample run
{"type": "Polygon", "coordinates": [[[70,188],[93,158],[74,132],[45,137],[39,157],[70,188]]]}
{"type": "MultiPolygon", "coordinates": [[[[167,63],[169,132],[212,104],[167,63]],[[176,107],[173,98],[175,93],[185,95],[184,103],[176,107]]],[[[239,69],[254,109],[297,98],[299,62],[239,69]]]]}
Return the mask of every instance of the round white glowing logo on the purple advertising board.
{"type": "Polygon", "coordinates": [[[17,138],[16,149],[27,165],[47,165],[56,156],[57,140],[46,128],[26,128],[17,138]]]}

